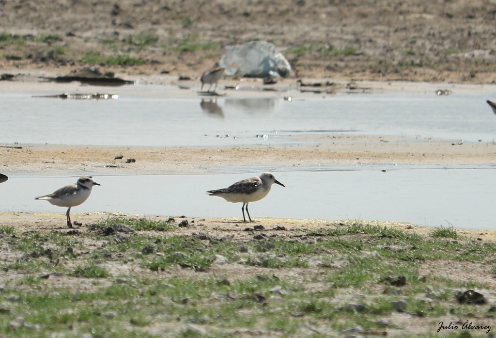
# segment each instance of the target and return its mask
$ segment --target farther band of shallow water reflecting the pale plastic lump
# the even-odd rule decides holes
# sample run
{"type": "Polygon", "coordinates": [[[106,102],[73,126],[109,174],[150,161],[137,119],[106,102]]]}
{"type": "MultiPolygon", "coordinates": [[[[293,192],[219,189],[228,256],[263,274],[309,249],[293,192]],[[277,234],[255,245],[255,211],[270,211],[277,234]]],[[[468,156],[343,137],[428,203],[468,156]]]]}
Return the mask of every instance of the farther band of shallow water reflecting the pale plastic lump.
{"type": "MultiPolygon", "coordinates": [[[[51,94],[64,92],[61,85],[55,88],[51,94]]],[[[244,99],[171,98],[167,86],[133,88],[134,93],[127,88],[118,100],[32,97],[47,91],[0,93],[0,142],[276,145],[317,133],[489,142],[496,129],[496,116],[485,102],[488,94],[340,94],[285,101],[283,93],[244,99]]],[[[88,92],[108,90],[91,87],[88,92]]],[[[119,94],[119,88],[113,90],[119,94]]]]}

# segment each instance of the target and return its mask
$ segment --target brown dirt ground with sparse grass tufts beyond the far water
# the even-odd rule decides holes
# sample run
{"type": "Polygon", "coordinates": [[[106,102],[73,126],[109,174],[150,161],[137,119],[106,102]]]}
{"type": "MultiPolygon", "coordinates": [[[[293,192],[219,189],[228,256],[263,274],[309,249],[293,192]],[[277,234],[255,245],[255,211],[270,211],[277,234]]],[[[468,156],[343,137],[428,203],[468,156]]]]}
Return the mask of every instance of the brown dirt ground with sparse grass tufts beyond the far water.
{"type": "Polygon", "coordinates": [[[224,47],[273,42],[296,78],[494,83],[491,0],[2,0],[0,69],[199,76],[224,47]],[[144,61],[114,66],[87,56],[144,61]]]}

